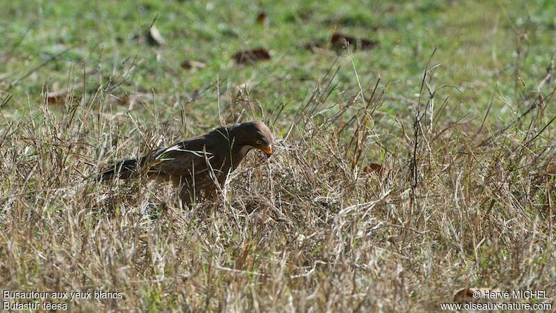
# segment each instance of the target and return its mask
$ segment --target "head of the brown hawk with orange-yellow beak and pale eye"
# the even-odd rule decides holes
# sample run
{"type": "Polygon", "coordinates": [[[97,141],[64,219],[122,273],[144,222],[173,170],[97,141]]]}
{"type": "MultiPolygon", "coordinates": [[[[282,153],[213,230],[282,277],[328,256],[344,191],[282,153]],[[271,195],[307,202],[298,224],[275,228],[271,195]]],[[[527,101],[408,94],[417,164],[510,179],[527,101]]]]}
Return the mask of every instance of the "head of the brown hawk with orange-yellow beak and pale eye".
{"type": "Polygon", "coordinates": [[[238,145],[245,153],[251,149],[259,149],[266,157],[272,155],[272,143],[274,136],[265,123],[254,120],[234,125],[231,128],[234,136],[234,145],[238,145]]]}

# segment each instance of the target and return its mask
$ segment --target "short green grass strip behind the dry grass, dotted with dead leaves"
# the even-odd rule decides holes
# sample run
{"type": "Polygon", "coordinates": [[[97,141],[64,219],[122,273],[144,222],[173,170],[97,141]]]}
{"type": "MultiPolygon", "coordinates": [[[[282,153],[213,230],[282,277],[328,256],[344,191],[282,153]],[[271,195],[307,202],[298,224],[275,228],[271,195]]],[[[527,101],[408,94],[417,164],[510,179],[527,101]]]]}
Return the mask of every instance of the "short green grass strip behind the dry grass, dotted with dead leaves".
{"type": "MultiPolygon", "coordinates": [[[[234,97],[232,87],[251,82],[250,95],[263,108],[272,111],[287,102],[295,113],[335,58],[332,51],[314,54],[300,46],[329,38],[338,30],[379,40],[380,44],[377,49],[341,58],[337,90],[356,88],[354,64],[363,88],[372,87],[378,77],[382,79],[381,86],[387,86],[393,98],[387,109],[407,109],[407,102],[420,88],[423,65],[438,47],[434,60],[441,67],[436,70],[436,81],[441,82],[439,86],[461,89],[461,93],[445,89],[441,95],[452,97],[452,107],[463,103],[462,111],[475,109],[473,106],[484,109],[497,86],[507,97],[536,88],[552,56],[550,33],[556,12],[551,1],[488,5],[472,1],[70,3],[18,1],[3,10],[3,54],[7,61],[0,70],[5,83],[67,49],[10,90],[15,95],[13,107],[24,106],[26,95],[34,102],[42,88],[59,90],[68,81],[81,90],[85,71],[89,92],[106,87],[111,79],[125,77],[111,93],[118,96],[154,90],[160,106],[172,105],[172,99],[176,101],[179,95],[190,95],[211,83],[220,85],[220,97],[227,104],[234,97]],[[268,15],[265,25],[255,22],[260,10],[268,15]],[[164,47],[149,47],[142,38],[156,16],[156,26],[167,42],[164,47]],[[516,38],[523,34],[527,38],[516,47],[516,38]],[[256,67],[233,64],[231,56],[236,51],[252,47],[270,49],[272,60],[256,67]],[[516,56],[517,49],[522,51],[520,56],[516,56]],[[137,65],[126,76],[133,58],[137,65]],[[208,66],[186,71],[179,66],[185,59],[208,66]],[[515,63],[520,65],[517,72],[515,63]],[[516,90],[516,79],[523,79],[526,89],[516,90]]],[[[187,113],[203,108],[206,120],[217,111],[216,98],[215,88],[210,88],[187,113]]],[[[341,99],[338,93],[333,102],[336,99],[341,99]]],[[[495,105],[500,109],[504,106],[500,101],[495,105]]],[[[163,113],[172,118],[176,111],[163,113]]]]}

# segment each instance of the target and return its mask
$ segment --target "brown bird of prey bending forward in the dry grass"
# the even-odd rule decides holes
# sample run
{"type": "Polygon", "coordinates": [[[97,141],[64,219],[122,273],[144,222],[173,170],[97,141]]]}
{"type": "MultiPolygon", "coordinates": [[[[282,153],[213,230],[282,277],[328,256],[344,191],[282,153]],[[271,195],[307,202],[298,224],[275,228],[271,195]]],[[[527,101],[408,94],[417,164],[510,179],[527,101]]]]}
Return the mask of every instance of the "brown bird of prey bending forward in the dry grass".
{"type": "Polygon", "coordinates": [[[130,179],[142,173],[149,179],[179,187],[179,199],[192,207],[201,195],[211,197],[250,150],[272,155],[274,136],[260,120],[224,125],[213,131],[161,147],[138,159],[119,161],[101,172],[99,180],[130,179]]]}

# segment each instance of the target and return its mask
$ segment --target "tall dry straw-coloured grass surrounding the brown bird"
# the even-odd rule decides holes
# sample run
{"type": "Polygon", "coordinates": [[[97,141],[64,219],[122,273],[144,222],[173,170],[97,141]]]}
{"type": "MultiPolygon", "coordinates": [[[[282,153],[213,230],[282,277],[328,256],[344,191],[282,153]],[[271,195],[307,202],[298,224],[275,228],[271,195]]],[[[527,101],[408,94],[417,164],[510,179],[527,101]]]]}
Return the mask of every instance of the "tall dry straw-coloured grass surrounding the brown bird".
{"type": "Polygon", "coordinates": [[[428,77],[414,116],[397,118],[380,111],[378,82],[327,103],[332,79],[293,127],[271,125],[275,157],[253,154],[217,202],[191,211],[169,186],[86,177],[199,125],[158,123],[154,111],[142,125],[100,92],[9,122],[3,289],[123,294],[67,301],[83,312],[427,312],[462,287],[556,294],[552,94],[496,126],[487,112],[450,116],[439,100],[431,115],[428,77]],[[382,170],[364,170],[371,161],[382,170]]]}

